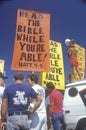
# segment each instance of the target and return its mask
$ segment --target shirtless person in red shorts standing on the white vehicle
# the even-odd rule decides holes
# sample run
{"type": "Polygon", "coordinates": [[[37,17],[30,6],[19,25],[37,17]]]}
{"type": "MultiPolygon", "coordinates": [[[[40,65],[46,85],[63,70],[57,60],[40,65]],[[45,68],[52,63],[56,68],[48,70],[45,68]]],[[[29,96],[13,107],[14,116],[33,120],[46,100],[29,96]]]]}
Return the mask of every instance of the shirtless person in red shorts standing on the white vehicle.
{"type": "Polygon", "coordinates": [[[69,48],[67,50],[67,55],[70,58],[70,65],[71,65],[71,68],[72,68],[74,79],[77,80],[76,72],[79,76],[79,79],[81,79],[81,75],[80,75],[80,72],[79,72],[79,69],[78,69],[77,50],[75,48],[75,42],[74,42],[74,40],[66,39],[65,44],[67,46],[69,46],[69,48]]]}

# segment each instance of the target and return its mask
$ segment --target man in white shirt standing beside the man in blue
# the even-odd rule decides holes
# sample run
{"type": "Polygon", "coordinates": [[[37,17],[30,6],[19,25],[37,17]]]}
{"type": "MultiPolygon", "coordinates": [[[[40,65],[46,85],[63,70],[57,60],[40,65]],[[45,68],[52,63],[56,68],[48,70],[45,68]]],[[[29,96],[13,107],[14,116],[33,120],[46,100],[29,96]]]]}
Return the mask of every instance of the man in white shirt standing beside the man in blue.
{"type": "MultiPolygon", "coordinates": [[[[45,106],[45,89],[38,84],[38,77],[34,73],[27,76],[27,82],[28,85],[31,86],[42,98],[40,107],[30,117],[31,120],[30,130],[46,130],[47,115],[46,115],[46,106],[45,106]]],[[[30,102],[31,102],[30,107],[33,107],[35,100],[31,98],[30,102]]]]}

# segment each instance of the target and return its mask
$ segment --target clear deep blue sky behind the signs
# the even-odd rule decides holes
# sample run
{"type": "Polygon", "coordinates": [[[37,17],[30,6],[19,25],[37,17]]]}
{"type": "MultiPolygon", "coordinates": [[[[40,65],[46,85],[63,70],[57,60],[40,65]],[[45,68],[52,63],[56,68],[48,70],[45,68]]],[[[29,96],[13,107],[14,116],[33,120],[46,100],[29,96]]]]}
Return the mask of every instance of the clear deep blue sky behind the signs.
{"type": "MultiPolygon", "coordinates": [[[[65,78],[70,71],[65,39],[74,39],[86,48],[85,0],[0,0],[0,59],[5,60],[6,85],[13,83],[11,70],[16,34],[17,10],[25,9],[50,14],[50,40],[60,42],[63,50],[65,78]]],[[[29,72],[24,72],[25,76],[29,72]]],[[[36,72],[39,76],[39,73],[36,72]]]]}

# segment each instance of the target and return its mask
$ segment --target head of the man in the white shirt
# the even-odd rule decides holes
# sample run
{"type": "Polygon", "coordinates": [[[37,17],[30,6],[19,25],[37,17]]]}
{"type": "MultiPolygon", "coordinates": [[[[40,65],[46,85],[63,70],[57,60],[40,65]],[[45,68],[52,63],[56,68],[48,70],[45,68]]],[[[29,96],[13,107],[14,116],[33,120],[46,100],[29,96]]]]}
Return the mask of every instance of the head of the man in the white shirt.
{"type": "Polygon", "coordinates": [[[30,74],[27,76],[27,82],[28,85],[33,86],[35,84],[38,84],[38,77],[36,74],[30,74]]]}

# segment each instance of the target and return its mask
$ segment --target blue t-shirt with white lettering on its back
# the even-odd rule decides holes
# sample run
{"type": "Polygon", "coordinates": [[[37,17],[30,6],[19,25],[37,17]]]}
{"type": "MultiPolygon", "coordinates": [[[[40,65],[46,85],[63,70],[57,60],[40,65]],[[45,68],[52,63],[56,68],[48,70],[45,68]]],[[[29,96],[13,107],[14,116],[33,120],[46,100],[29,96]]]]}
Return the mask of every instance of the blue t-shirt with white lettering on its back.
{"type": "Polygon", "coordinates": [[[18,83],[5,88],[3,99],[8,100],[8,113],[26,112],[29,99],[36,98],[37,95],[31,87],[18,83]]]}

